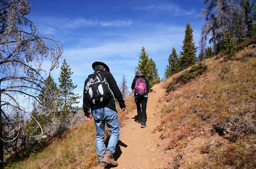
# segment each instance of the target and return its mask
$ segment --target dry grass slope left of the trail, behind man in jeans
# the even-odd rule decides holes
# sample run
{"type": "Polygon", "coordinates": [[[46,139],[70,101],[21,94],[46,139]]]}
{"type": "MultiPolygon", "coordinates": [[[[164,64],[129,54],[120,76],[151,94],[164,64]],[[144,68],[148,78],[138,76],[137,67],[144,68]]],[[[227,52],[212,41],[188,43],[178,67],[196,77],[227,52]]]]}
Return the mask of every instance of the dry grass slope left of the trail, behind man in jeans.
{"type": "MultiPolygon", "coordinates": [[[[125,98],[126,109],[123,112],[117,103],[117,112],[120,126],[124,125],[127,114],[133,111],[135,102],[133,96],[125,98]]],[[[62,135],[56,137],[52,143],[42,152],[32,157],[13,162],[5,168],[91,168],[99,165],[95,152],[95,124],[94,121],[84,121],[82,124],[66,130],[62,135]]],[[[106,130],[105,140],[109,137],[106,130]]]]}

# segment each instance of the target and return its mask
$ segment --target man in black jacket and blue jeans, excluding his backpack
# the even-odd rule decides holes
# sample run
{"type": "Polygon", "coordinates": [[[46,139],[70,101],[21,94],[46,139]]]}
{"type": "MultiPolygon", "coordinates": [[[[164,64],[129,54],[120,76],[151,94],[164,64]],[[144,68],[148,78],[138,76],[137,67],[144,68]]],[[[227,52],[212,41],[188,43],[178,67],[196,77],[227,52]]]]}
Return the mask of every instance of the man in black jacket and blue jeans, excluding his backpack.
{"type": "MultiPolygon", "coordinates": [[[[120,108],[124,111],[126,106],[124,104],[123,95],[116,84],[116,80],[110,73],[108,66],[103,62],[94,62],[92,63],[92,69],[95,72],[102,71],[106,81],[108,82],[109,88],[112,90],[115,98],[119,102],[120,108]]],[[[100,105],[90,102],[85,89],[88,80],[89,77],[84,82],[83,109],[85,119],[90,121],[93,116],[95,122],[97,132],[96,152],[98,154],[100,166],[105,167],[106,164],[118,165],[117,161],[113,158],[113,154],[116,151],[116,143],[120,135],[115,98],[112,96],[107,102],[101,103],[100,105]],[[92,110],[92,116],[90,110],[92,110]],[[105,123],[110,130],[110,138],[107,148],[104,143],[105,123]]]]}

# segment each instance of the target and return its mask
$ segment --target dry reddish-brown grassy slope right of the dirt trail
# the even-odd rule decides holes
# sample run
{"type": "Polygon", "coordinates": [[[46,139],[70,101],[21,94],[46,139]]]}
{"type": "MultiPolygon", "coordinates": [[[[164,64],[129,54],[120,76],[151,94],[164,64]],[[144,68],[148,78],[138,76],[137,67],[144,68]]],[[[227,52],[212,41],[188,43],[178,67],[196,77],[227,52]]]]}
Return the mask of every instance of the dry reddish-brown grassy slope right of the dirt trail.
{"type": "MultiPolygon", "coordinates": [[[[160,132],[160,139],[168,140],[166,150],[181,152],[190,138],[200,137],[205,128],[209,128],[206,132],[218,133],[228,140],[227,145],[214,150],[208,145],[202,147],[200,151],[207,153],[208,159],[185,168],[256,167],[255,45],[241,50],[230,61],[215,56],[204,63],[208,69],[203,75],[165,96],[166,103],[160,103],[166,105],[162,119],[153,132],[160,132]]],[[[167,79],[162,86],[184,72],[167,79]]]]}

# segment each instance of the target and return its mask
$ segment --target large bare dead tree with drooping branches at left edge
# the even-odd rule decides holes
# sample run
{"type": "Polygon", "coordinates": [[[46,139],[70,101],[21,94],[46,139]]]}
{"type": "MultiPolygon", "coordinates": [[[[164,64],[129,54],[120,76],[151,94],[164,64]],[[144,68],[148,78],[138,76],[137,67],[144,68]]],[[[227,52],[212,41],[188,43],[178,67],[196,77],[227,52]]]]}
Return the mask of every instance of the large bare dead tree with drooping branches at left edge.
{"type": "MultiPolygon", "coordinates": [[[[4,142],[17,139],[24,118],[31,115],[32,101],[40,103],[44,58],[50,59],[53,70],[62,54],[62,44],[40,37],[36,26],[25,17],[30,5],[28,0],[0,0],[0,167],[4,161],[4,142]],[[7,140],[3,133],[8,135],[7,140]]],[[[42,130],[38,139],[43,136],[42,130]]]]}

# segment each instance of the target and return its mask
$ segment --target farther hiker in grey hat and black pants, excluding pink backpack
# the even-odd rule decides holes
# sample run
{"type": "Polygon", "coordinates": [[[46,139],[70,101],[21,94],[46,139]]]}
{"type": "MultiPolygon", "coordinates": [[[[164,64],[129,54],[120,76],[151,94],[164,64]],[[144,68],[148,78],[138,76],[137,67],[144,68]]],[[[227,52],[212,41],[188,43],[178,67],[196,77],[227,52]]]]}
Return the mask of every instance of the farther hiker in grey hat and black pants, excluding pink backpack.
{"type": "Polygon", "coordinates": [[[145,78],[145,75],[142,73],[142,71],[138,70],[136,72],[135,78],[132,81],[132,87],[131,87],[132,90],[134,90],[134,88],[135,88],[135,84],[136,84],[138,77],[142,77],[145,80],[146,88],[147,88],[147,92],[144,93],[144,96],[142,96],[142,97],[136,95],[134,92],[134,99],[135,99],[135,103],[137,106],[137,115],[138,115],[137,123],[141,123],[141,128],[145,128],[145,127],[147,127],[147,125],[146,125],[146,121],[147,121],[146,109],[147,109],[147,102],[148,102],[149,84],[148,84],[148,80],[145,78]],[[140,105],[141,105],[141,107],[140,107],[140,105]]]}

